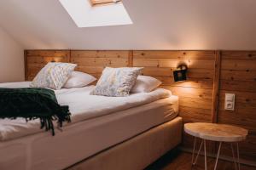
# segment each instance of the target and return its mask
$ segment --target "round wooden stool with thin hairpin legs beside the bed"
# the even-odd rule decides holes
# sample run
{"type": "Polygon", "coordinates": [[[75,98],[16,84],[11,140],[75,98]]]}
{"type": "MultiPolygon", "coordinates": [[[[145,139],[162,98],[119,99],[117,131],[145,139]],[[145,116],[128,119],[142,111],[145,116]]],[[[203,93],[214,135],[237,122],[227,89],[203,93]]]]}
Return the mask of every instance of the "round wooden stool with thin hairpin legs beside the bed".
{"type": "Polygon", "coordinates": [[[204,152],[205,152],[205,169],[207,170],[207,144],[206,140],[219,142],[218,145],[218,154],[215,161],[214,170],[217,168],[218,164],[218,156],[221,149],[221,145],[223,142],[228,142],[231,145],[233,160],[235,163],[235,168],[238,167],[240,170],[240,161],[239,161],[239,145],[238,142],[247,138],[248,131],[247,129],[241,127],[235,127],[231,125],[225,124],[217,124],[217,123],[205,123],[205,122],[195,122],[195,123],[186,123],[184,125],[184,131],[189,133],[190,135],[195,137],[194,140],[194,148],[192,154],[192,165],[195,165],[197,161],[197,157],[201,151],[202,144],[204,144],[204,152]],[[202,139],[200,148],[195,157],[195,143],[196,139],[202,139]],[[237,150],[237,158],[235,156],[233,144],[236,144],[237,150]]]}

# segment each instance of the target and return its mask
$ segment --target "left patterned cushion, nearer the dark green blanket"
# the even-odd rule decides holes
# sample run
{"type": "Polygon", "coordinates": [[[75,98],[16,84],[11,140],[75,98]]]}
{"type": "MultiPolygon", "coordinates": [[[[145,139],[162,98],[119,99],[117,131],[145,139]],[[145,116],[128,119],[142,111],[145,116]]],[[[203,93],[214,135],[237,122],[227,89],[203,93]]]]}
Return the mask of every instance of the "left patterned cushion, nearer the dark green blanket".
{"type": "Polygon", "coordinates": [[[71,63],[48,63],[33,79],[31,87],[59,90],[67,82],[76,66],[71,63]]]}

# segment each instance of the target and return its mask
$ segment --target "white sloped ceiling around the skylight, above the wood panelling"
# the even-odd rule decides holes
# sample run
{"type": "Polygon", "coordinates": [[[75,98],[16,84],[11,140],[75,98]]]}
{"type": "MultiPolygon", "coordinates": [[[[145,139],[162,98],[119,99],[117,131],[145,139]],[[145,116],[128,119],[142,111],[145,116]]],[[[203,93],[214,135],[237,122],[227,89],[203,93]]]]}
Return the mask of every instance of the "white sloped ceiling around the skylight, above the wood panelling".
{"type": "Polygon", "coordinates": [[[124,3],[133,25],[78,28],[58,0],[1,0],[0,26],[33,49],[256,48],[255,0],[124,3]]]}

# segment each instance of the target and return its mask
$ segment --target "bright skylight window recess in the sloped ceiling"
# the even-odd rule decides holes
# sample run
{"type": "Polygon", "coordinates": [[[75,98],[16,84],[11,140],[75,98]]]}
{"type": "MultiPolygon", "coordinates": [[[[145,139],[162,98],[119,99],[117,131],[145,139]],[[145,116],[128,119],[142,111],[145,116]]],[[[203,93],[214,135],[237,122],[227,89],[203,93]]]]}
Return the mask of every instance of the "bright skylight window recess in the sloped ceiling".
{"type": "Polygon", "coordinates": [[[59,1],[79,27],[122,26],[132,24],[124,4],[119,0],[59,1]],[[100,5],[103,3],[109,5],[100,5]]]}

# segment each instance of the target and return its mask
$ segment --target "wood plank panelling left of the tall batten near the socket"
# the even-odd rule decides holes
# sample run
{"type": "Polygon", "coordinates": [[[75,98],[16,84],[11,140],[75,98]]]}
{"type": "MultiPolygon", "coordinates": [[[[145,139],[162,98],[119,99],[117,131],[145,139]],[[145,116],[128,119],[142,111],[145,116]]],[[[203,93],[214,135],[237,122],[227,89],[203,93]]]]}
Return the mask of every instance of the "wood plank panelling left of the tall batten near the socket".
{"type": "Polygon", "coordinates": [[[215,51],[27,50],[26,80],[32,80],[53,60],[75,63],[77,71],[97,78],[106,66],[144,67],[143,75],[158,78],[163,88],[171,89],[180,97],[180,115],[184,122],[212,122],[215,57],[215,51]],[[173,82],[172,71],[179,64],[189,67],[186,82],[173,82]]]}

